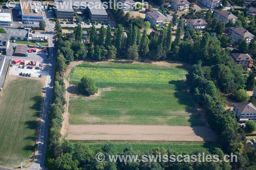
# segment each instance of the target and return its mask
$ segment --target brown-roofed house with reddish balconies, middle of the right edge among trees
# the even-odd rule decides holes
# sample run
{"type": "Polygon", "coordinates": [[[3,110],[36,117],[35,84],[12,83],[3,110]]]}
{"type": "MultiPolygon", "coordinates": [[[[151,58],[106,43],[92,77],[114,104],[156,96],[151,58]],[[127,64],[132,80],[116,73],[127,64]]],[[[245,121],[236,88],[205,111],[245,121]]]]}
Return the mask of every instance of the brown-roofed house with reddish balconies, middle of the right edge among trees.
{"type": "Polygon", "coordinates": [[[242,65],[243,67],[252,67],[253,59],[249,54],[242,53],[231,53],[232,57],[236,60],[237,64],[242,65]]]}

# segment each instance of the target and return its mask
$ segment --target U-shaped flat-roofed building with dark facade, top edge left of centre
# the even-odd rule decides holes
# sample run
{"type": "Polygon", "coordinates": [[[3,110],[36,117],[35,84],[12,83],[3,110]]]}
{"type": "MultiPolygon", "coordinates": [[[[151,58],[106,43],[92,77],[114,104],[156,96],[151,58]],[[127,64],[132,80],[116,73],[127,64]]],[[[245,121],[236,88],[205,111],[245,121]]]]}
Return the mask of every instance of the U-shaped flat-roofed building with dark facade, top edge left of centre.
{"type": "Polygon", "coordinates": [[[100,0],[75,0],[75,2],[73,0],[55,0],[54,3],[54,10],[58,19],[73,19],[74,11],[80,13],[89,10],[91,20],[108,20],[108,13],[100,0]]]}

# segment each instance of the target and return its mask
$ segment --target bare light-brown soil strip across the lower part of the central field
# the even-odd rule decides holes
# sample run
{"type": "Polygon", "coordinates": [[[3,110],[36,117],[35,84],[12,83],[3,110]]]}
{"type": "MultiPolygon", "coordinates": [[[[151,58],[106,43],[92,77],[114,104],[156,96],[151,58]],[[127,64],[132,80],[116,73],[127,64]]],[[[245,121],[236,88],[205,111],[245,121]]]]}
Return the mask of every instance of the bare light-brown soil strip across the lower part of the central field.
{"type": "Polygon", "coordinates": [[[69,140],[214,141],[207,127],[147,125],[69,125],[69,140]]]}

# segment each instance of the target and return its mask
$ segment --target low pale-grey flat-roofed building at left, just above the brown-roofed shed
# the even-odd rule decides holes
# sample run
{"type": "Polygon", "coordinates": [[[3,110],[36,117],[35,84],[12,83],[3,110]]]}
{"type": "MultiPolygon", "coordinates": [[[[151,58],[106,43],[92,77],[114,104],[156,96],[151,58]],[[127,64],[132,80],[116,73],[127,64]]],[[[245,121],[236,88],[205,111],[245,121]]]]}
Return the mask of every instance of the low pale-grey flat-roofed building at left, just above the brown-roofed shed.
{"type": "Polygon", "coordinates": [[[10,40],[29,41],[29,29],[3,28],[7,34],[10,34],[10,40]]]}

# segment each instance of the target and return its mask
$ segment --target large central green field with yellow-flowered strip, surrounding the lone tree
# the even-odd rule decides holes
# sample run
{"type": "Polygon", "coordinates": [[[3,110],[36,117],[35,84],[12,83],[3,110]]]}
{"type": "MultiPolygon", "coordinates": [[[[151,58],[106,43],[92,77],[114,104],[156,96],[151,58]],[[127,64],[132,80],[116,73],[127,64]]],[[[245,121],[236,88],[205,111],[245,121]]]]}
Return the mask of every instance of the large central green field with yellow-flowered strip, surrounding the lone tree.
{"type": "Polygon", "coordinates": [[[204,125],[186,91],[182,65],[86,62],[73,68],[70,83],[96,80],[99,97],[71,96],[72,125],[204,125]],[[107,89],[104,89],[107,88],[107,89]]]}

